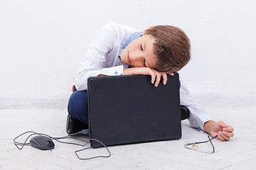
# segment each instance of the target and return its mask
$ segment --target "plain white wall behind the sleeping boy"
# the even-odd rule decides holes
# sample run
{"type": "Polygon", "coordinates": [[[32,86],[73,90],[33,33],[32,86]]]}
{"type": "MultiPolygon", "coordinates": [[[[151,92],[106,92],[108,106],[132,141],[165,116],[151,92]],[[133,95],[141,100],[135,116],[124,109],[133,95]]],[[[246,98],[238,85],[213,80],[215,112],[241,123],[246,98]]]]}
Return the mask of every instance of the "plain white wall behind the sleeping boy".
{"type": "Polygon", "coordinates": [[[0,0],[0,108],[65,109],[87,45],[110,21],[182,28],[193,94],[255,96],[256,1],[0,0]]]}

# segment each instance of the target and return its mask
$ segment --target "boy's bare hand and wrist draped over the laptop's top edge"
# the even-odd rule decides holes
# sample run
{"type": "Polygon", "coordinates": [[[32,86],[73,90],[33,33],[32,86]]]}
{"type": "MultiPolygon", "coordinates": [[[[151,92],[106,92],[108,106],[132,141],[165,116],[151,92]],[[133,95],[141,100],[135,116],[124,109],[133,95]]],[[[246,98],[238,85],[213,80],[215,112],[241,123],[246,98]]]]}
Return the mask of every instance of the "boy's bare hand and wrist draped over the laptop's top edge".
{"type": "MultiPolygon", "coordinates": [[[[154,86],[158,86],[163,77],[163,84],[165,85],[167,82],[167,75],[165,72],[158,72],[155,69],[151,69],[149,67],[133,67],[129,69],[124,69],[124,75],[131,75],[131,74],[143,74],[143,75],[151,75],[151,84],[154,86]]],[[[171,76],[174,76],[174,73],[168,73],[171,76]]]]}

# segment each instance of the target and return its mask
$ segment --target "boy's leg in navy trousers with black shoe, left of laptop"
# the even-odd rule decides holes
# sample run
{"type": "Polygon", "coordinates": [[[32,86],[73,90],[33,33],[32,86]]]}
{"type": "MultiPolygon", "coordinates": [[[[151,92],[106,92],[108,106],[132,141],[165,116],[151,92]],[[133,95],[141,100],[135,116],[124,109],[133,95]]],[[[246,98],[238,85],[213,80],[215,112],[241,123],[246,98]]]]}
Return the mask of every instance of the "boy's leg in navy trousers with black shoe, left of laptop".
{"type": "Polygon", "coordinates": [[[68,101],[68,114],[66,127],[68,134],[88,128],[87,91],[74,91],[68,101]]]}

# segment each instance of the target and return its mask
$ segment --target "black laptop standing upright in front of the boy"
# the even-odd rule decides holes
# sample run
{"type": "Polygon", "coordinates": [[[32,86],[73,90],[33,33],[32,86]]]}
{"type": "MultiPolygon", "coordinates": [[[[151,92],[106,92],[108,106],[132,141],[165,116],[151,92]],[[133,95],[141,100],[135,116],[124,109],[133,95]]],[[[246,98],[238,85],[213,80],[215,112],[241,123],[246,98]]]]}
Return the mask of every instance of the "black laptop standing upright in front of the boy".
{"type": "Polygon", "coordinates": [[[148,75],[90,77],[90,138],[107,146],[180,139],[179,87],[178,73],[158,87],[148,75]]]}

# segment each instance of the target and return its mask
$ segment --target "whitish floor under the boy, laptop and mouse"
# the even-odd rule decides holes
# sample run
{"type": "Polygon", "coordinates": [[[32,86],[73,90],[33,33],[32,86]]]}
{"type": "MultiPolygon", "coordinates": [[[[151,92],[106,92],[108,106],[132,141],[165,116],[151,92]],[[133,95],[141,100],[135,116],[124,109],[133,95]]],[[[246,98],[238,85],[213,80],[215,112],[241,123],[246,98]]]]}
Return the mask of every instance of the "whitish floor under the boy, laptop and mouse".
{"type": "MultiPolygon", "coordinates": [[[[82,148],[79,146],[55,142],[52,151],[41,151],[31,146],[18,150],[14,145],[14,137],[28,130],[54,137],[67,135],[65,109],[0,110],[0,169],[256,169],[256,106],[206,106],[206,109],[213,118],[221,118],[235,128],[232,140],[213,140],[214,154],[203,153],[211,149],[210,143],[199,145],[198,150],[183,146],[186,142],[208,139],[205,132],[198,132],[189,126],[188,120],[183,120],[181,140],[109,147],[111,157],[83,161],[74,153],[82,148]]],[[[88,139],[85,135],[78,137],[88,139]]],[[[95,154],[107,152],[104,148],[90,149],[80,156],[95,154]]]]}

